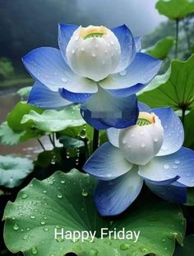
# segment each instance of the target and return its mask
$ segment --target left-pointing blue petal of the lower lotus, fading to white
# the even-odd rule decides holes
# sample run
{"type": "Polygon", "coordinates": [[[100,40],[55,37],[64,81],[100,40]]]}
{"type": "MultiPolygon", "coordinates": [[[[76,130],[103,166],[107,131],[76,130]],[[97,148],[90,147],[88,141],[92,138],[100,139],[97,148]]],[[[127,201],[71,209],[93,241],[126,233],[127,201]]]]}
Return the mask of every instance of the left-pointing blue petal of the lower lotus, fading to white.
{"type": "Polygon", "coordinates": [[[127,173],[132,168],[119,149],[109,142],[101,145],[87,160],[83,169],[85,173],[102,180],[111,180],[127,173]]]}

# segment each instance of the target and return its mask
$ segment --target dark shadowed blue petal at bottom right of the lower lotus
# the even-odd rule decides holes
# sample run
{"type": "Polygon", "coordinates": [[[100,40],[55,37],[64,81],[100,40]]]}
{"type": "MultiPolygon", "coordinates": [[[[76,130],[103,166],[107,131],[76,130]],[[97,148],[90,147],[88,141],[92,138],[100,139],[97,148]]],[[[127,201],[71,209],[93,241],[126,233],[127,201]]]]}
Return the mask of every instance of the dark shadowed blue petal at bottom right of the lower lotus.
{"type": "Polygon", "coordinates": [[[178,204],[183,204],[187,201],[187,187],[177,187],[173,185],[154,185],[146,182],[147,187],[158,197],[164,200],[178,204]]]}

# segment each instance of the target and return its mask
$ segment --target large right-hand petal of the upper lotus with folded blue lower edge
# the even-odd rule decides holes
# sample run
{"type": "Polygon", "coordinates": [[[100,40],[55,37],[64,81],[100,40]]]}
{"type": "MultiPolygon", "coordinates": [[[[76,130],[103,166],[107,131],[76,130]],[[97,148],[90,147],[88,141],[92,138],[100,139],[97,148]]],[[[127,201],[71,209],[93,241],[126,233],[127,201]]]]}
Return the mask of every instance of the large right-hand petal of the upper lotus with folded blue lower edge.
{"type": "Polygon", "coordinates": [[[108,78],[99,81],[102,88],[117,97],[132,95],[155,77],[159,72],[161,61],[150,55],[137,53],[132,64],[121,73],[112,74],[108,78]]]}

